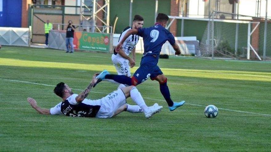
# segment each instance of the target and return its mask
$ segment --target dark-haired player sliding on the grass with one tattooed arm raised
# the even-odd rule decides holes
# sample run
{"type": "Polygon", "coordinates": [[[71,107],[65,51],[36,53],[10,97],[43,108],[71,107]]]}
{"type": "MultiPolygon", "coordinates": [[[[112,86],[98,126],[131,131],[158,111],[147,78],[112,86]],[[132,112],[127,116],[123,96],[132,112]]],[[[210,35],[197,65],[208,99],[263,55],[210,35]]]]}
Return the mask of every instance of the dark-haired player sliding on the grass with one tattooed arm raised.
{"type": "Polygon", "coordinates": [[[27,101],[30,103],[31,107],[33,107],[40,114],[64,114],[72,117],[111,118],[118,115],[120,112],[127,111],[130,113],[144,112],[145,117],[150,118],[152,115],[160,112],[163,108],[157,103],[151,107],[148,107],[135,86],[118,89],[102,99],[86,99],[95,82],[96,75],[93,76],[91,83],[79,95],[74,94],[67,84],[60,82],[56,85],[54,92],[56,95],[62,98],[63,101],[51,109],[40,108],[37,105],[36,100],[33,98],[27,98],[27,101]],[[126,103],[126,98],[130,96],[137,105],[129,105],[126,103]]]}

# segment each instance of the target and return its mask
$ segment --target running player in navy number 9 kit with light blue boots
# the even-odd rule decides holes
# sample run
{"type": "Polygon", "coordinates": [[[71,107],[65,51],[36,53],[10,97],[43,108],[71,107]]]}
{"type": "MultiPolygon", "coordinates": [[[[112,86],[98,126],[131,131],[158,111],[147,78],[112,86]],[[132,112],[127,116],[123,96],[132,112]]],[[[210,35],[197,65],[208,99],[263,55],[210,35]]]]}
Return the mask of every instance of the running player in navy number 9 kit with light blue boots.
{"type": "Polygon", "coordinates": [[[160,92],[164,96],[168,103],[170,111],[174,111],[177,107],[182,106],[185,101],[173,102],[170,98],[170,92],[167,85],[167,77],[164,76],[163,72],[157,66],[159,54],[161,52],[162,45],[169,41],[173,49],[176,51],[176,55],[180,55],[180,48],[175,43],[175,38],[167,29],[165,29],[168,23],[168,16],[166,14],[159,13],[156,17],[156,23],[154,26],[149,28],[130,29],[125,33],[123,39],[116,46],[115,50],[118,51],[122,48],[124,40],[131,34],[137,34],[143,37],[144,41],[144,53],[141,58],[140,67],[136,70],[132,78],[127,76],[118,76],[109,74],[107,70],[104,70],[97,76],[97,83],[104,79],[111,79],[115,82],[124,85],[138,85],[149,77],[151,80],[157,80],[160,83],[160,92]]]}

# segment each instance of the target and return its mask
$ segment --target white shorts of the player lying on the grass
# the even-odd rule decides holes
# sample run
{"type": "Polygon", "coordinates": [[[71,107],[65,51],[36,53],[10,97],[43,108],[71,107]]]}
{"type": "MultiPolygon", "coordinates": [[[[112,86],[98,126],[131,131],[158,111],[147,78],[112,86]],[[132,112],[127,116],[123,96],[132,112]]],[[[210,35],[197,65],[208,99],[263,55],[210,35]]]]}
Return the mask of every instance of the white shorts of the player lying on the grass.
{"type": "Polygon", "coordinates": [[[96,118],[111,118],[115,111],[126,103],[126,97],[121,89],[113,91],[101,99],[101,107],[96,118]]]}

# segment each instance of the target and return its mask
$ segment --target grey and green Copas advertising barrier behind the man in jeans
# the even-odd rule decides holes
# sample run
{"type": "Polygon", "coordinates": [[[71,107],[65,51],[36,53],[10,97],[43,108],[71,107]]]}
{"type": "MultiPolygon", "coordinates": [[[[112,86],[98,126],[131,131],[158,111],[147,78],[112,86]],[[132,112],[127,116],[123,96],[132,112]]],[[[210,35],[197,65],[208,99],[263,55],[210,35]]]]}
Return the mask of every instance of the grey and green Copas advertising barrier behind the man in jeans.
{"type": "MultiPolygon", "coordinates": [[[[52,49],[66,50],[66,31],[50,30],[48,45],[52,49]]],[[[111,52],[112,33],[74,32],[74,49],[85,51],[111,52]]]]}

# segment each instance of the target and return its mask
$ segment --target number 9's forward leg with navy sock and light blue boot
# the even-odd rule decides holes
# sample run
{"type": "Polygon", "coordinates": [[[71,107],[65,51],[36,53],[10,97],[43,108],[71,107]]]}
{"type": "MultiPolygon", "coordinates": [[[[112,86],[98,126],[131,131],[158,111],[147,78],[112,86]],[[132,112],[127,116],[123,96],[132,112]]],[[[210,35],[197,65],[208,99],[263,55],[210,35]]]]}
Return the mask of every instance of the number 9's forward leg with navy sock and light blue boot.
{"type": "Polygon", "coordinates": [[[170,111],[174,111],[177,107],[180,107],[185,103],[185,101],[181,101],[181,102],[172,101],[172,99],[170,98],[170,92],[167,85],[167,77],[164,74],[158,75],[155,80],[158,81],[160,84],[160,92],[162,93],[165,100],[167,101],[168,108],[170,111]]]}

